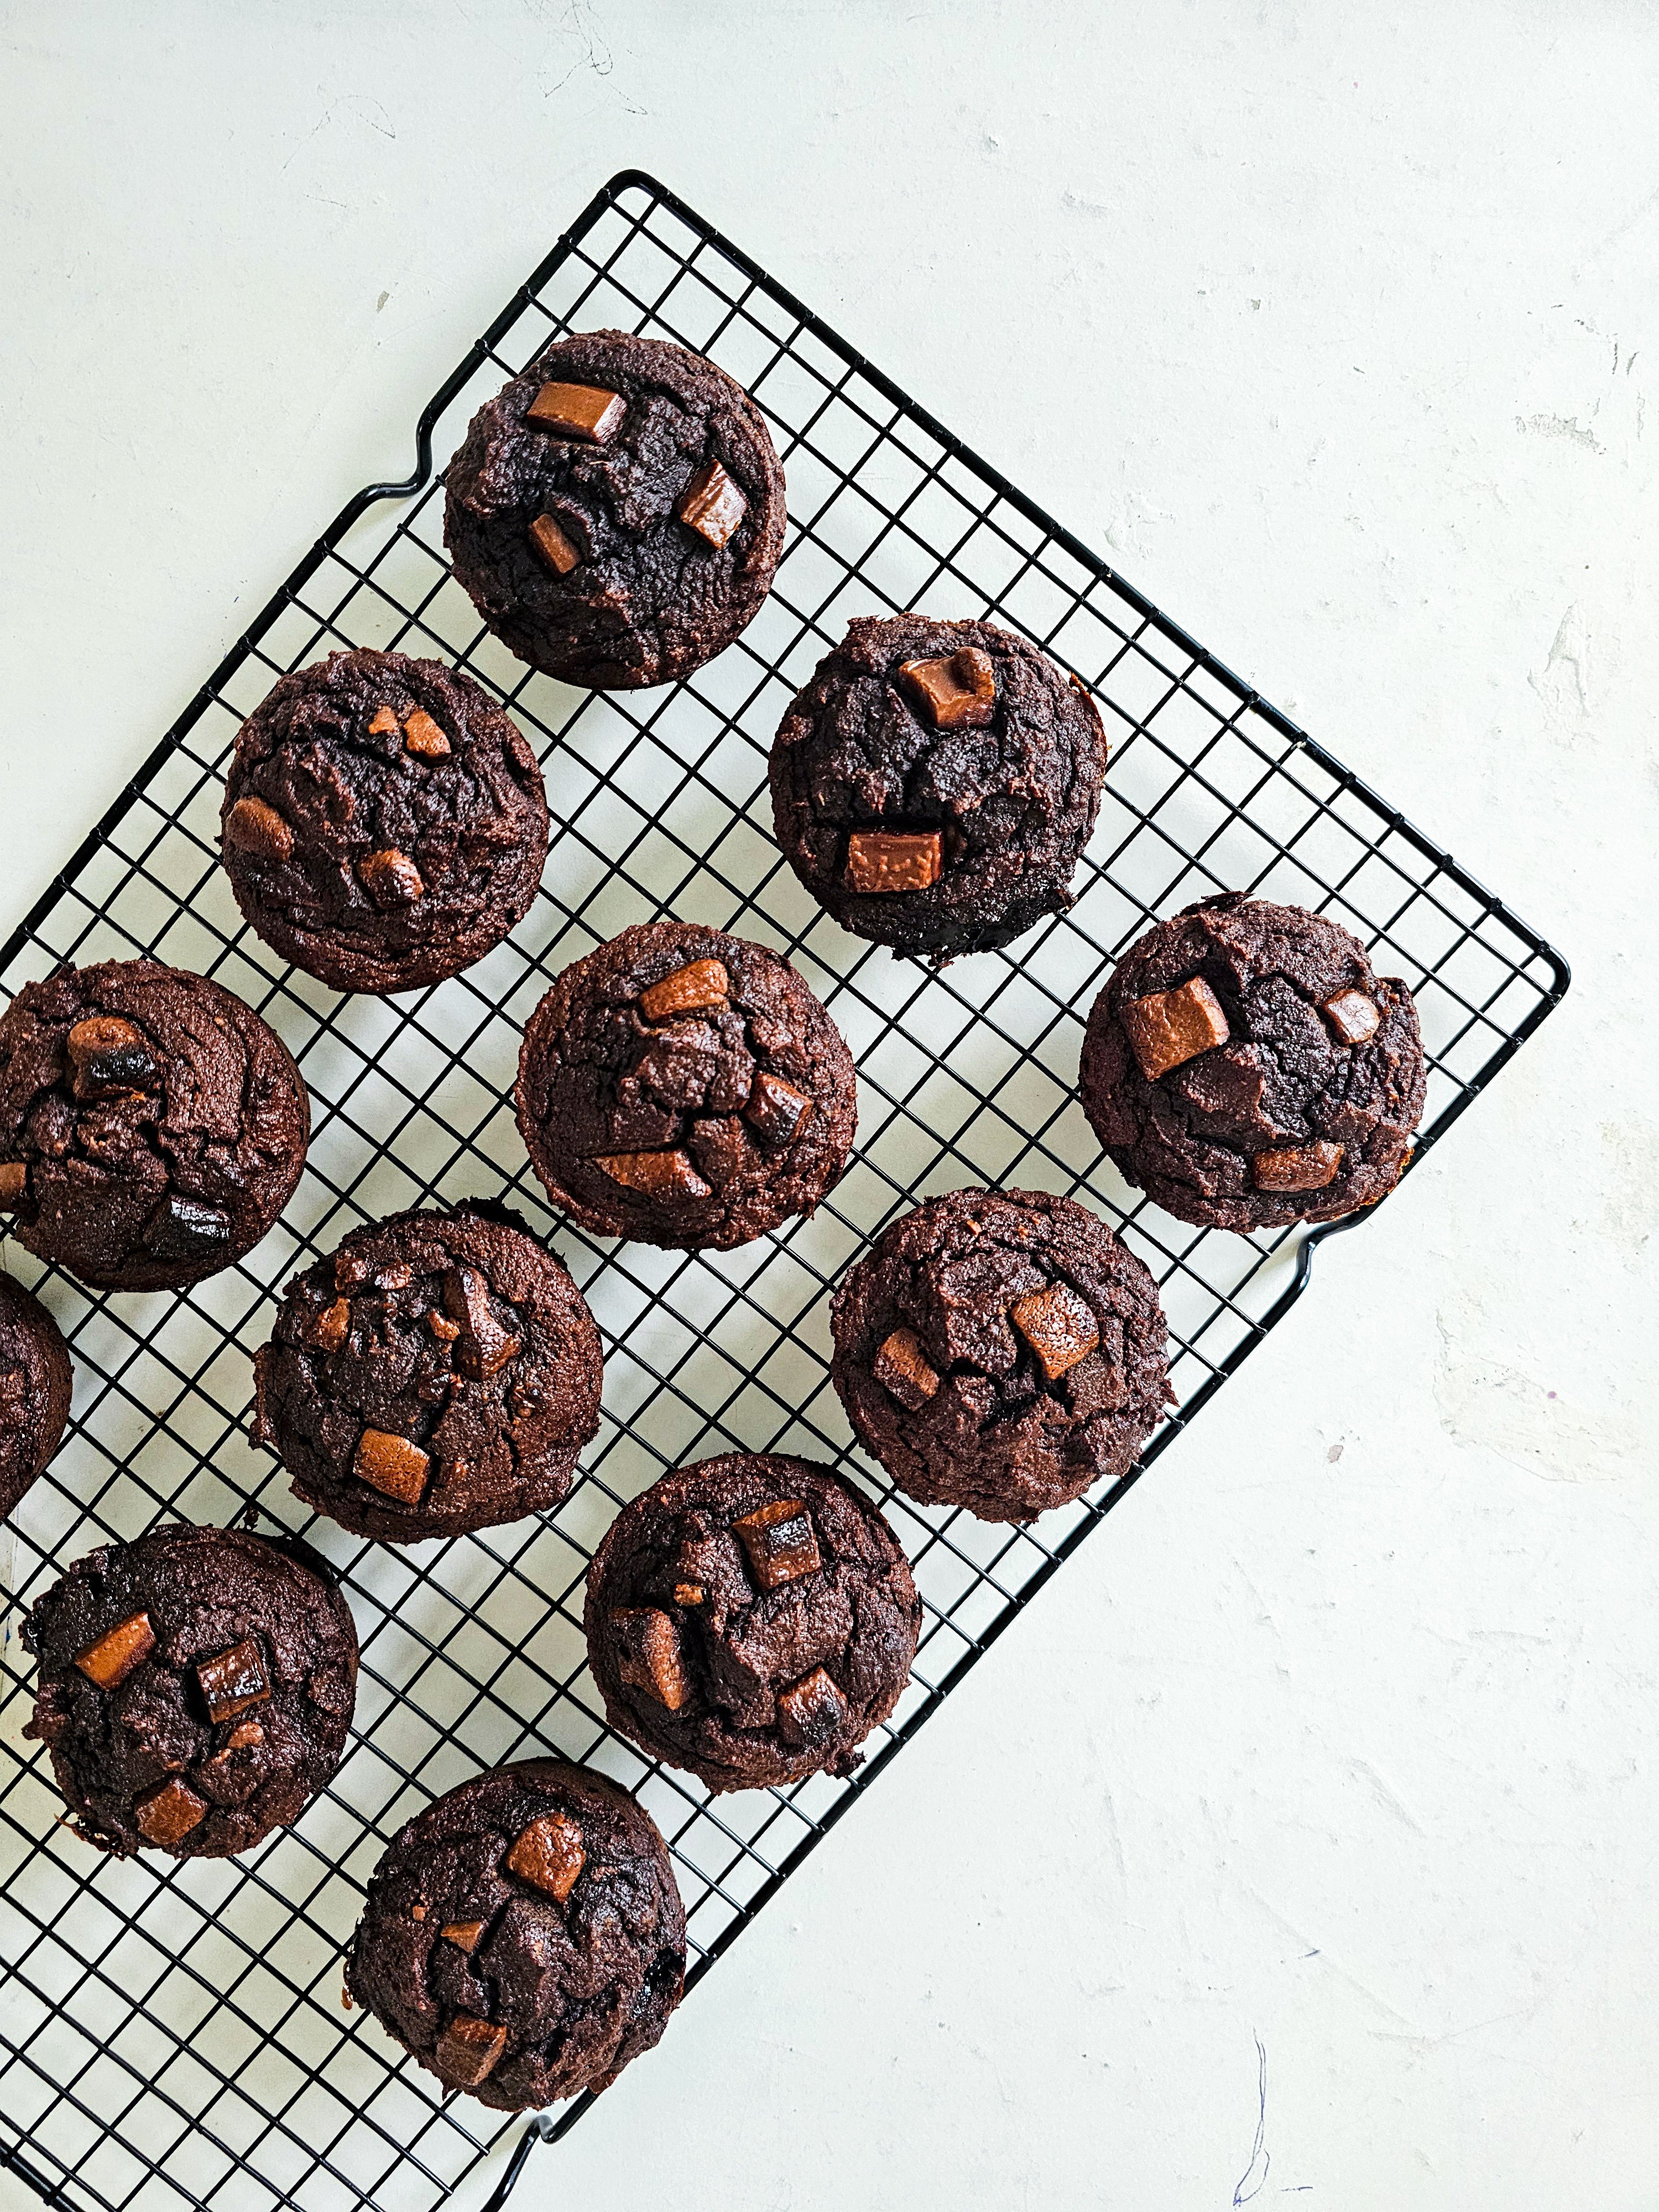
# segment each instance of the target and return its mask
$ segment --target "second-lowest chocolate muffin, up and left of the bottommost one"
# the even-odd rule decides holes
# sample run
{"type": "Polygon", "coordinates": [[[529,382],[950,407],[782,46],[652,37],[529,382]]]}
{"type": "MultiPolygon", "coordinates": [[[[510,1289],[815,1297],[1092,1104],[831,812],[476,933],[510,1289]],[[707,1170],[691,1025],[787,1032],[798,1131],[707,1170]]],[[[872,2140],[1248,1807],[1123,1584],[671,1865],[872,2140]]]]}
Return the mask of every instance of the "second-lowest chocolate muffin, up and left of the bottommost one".
{"type": "Polygon", "coordinates": [[[341,1763],[356,1630],[301,1544],[170,1522],[88,1551],[22,1635],[40,1657],[24,1734],[102,1851],[250,1851],[341,1763]]]}

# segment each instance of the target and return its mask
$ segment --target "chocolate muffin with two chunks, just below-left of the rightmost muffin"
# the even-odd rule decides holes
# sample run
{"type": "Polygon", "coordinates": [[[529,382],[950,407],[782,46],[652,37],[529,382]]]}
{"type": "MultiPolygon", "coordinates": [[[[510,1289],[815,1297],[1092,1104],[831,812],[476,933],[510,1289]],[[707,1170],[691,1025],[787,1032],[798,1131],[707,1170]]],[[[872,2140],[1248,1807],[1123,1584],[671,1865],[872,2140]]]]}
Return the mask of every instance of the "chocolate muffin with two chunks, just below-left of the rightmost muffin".
{"type": "Polygon", "coordinates": [[[894,1221],[830,1329],[858,1442],[911,1498],[989,1522],[1128,1473],[1170,1396],[1157,1283],[1046,1190],[951,1190],[894,1221]]]}

